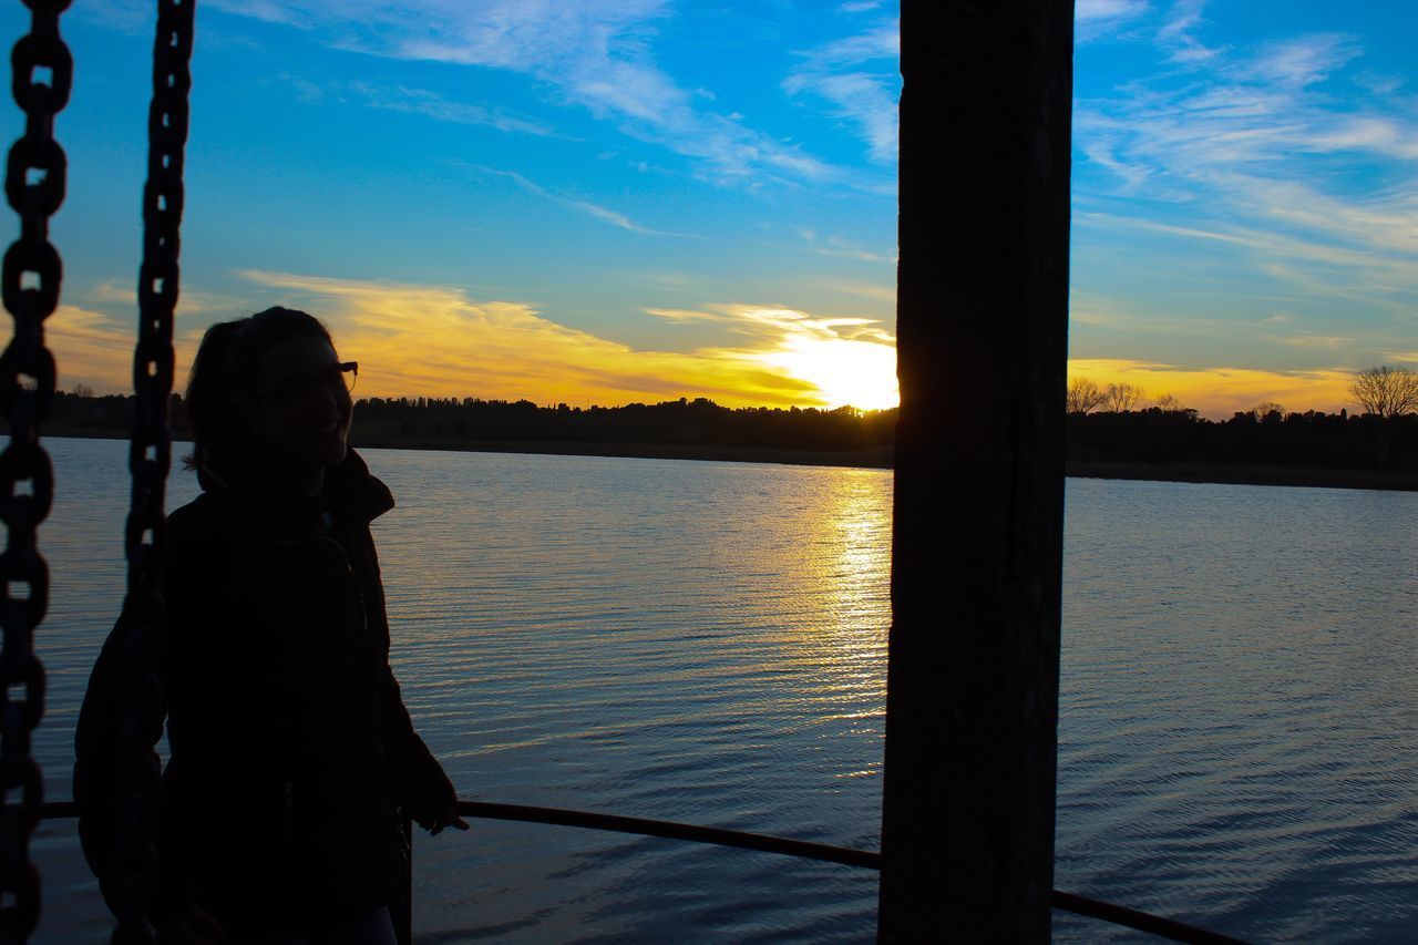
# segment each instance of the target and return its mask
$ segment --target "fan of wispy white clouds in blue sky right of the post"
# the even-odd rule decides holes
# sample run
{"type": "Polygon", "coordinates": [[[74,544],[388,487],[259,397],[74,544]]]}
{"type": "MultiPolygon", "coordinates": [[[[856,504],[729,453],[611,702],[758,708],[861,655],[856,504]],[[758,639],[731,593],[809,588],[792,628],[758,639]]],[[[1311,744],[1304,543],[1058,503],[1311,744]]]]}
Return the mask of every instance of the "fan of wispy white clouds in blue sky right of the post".
{"type": "MultiPolygon", "coordinates": [[[[1176,4],[1163,28],[1167,41],[1197,28],[1200,9],[1176,4]]],[[[1178,206],[1217,204],[1219,197],[1222,213],[1415,248],[1418,118],[1316,88],[1360,55],[1353,37],[1333,33],[1217,52],[1205,72],[1163,72],[1110,96],[1081,99],[1078,146],[1130,197],[1178,206]],[[1334,170],[1337,158],[1391,162],[1390,173],[1364,186],[1334,170]],[[1296,214],[1306,207],[1317,210],[1296,214]]]]}

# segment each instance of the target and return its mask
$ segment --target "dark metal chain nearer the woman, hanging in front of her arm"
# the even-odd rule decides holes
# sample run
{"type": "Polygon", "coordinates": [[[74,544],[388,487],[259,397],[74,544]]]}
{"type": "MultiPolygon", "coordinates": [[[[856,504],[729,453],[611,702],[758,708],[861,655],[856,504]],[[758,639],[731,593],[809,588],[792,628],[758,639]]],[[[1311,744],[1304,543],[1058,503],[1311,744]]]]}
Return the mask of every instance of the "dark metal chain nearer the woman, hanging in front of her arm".
{"type": "Polygon", "coordinates": [[[162,570],[167,516],[163,512],[172,434],[173,311],[177,305],[179,227],[183,210],[183,146],[187,143],[189,61],[196,0],[159,0],[153,41],[153,101],[147,112],[147,183],[143,187],[143,261],[138,274],[138,346],[133,352],[133,434],[128,467],[132,507],[123,532],[128,600],[123,606],[125,685],[121,765],[126,803],[119,833],[113,942],[152,942],[149,924],[157,891],[153,827],[163,731],[159,653],[164,630],[162,570]]]}

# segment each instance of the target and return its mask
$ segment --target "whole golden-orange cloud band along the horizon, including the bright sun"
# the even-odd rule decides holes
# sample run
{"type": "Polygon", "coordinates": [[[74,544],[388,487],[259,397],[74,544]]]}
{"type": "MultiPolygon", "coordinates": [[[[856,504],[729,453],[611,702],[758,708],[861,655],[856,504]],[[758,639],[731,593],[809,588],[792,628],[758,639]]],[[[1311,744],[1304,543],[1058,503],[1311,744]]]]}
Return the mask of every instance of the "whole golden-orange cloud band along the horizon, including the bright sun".
{"type": "MultiPolygon", "coordinates": [[[[617,404],[710,397],[726,406],[879,407],[896,403],[895,338],[878,322],[815,318],[783,306],[652,309],[666,321],[713,321],[737,346],[637,350],[543,318],[518,302],[475,302],[444,287],[247,272],[320,315],[340,350],[360,360],[363,396],[476,396],[537,403],[617,404]]],[[[190,312],[184,312],[184,316],[190,312]]],[[[182,390],[204,325],[179,318],[182,390]]],[[[133,326],[77,305],[45,322],[58,386],[132,390],[133,326]]],[[[1418,362],[1418,352],[1390,355],[1418,362]]],[[[1353,372],[1180,368],[1127,359],[1073,359],[1069,376],[1170,393],[1205,416],[1229,417],[1273,400],[1288,410],[1354,407],[1353,372]]]]}

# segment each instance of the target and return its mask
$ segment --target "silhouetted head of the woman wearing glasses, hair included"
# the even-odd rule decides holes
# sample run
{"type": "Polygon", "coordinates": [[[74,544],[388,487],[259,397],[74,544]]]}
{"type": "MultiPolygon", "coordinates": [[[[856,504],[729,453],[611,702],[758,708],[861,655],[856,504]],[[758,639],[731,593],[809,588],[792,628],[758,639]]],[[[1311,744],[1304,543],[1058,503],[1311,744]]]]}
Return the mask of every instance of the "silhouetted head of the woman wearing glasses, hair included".
{"type": "Polygon", "coordinates": [[[268,308],[207,329],[187,383],[193,465],[312,471],[345,458],[353,416],[330,333],[316,318],[268,308]]]}

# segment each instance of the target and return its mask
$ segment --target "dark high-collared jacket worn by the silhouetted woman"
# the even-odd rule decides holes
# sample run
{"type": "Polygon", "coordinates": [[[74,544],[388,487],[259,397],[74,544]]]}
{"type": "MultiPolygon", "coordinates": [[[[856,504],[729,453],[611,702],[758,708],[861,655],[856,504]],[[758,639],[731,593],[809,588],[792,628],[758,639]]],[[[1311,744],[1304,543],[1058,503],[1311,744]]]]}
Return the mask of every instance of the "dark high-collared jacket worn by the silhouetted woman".
{"type": "MultiPolygon", "coordinates": [[[[156,911],[197,902],[259,934],[390,904],[407,857],[396,809],[431,826],[455,800],[389,667],[369,524],[393,497],[353,451],[318,499],[203,484],[167,531],[156,911]]],[[[75,738],[79,836],[101,878],[123,803],[126,634],[121,617],[75,738]]]]}

